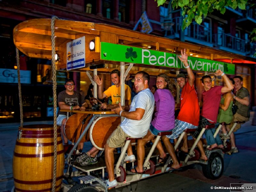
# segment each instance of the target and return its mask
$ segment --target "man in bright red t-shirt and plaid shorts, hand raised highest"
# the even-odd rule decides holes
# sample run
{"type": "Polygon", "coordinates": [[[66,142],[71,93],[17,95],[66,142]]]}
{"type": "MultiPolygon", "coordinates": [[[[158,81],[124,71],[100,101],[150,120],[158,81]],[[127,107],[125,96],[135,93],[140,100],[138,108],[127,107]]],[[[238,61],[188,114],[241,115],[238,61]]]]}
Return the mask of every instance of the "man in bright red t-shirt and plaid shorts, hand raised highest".
{"type": "MultiPolygon", "coordinates": [[[[184,49],[184,51],[181,50],[181,57],[178,57],[183,62],[188,72],[188,78],[182,73],[176,76],[177,83],[182,89],[180,94],[180,112],[175,120],[175,128],[172,130],[172,134],[167,136],[169,139],[174,139],[174,143],[177,142],[177,138],[185,129],[197,128],[200,114],[197,93],[194,86],[195,75],[188,65],[188,54],[186,53],[186,49],[184,49]]],[[[201,140],[199,140],[197,146],[201,152],[200,159],[208,160],[204,153],[204,147],[201,140]]],[[[188,152],[187,133],[183,137],[183,146],[181,147],[181,150],[185,153],[188,152]]]]}

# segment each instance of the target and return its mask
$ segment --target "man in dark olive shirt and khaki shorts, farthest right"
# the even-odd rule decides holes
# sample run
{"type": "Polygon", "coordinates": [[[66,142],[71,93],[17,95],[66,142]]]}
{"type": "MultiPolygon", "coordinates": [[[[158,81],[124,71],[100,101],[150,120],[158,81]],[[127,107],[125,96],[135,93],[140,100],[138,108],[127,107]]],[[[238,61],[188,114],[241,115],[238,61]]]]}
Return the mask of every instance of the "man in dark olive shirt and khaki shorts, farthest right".
{"type": "MultiPolygon", "coordinates": [[[[235,115],[233,116],[233,120],[231,124],[227,125],[227,130],[229,131],[233,126],[235,121],[249,121],[250,118],[250,94],[249,91],[243,87],[243,77],[234,76],[236,94],[234,95],[234,102],[237,106],[237,110],[235,115]]],[[[231,142],[231,150],[227,153],[238,153],[238,149],[236,147],[235,135],[238,129],[241,128],[241,124],[237,124],[233,132],[230,134],[230,142],[231,142]]]]}

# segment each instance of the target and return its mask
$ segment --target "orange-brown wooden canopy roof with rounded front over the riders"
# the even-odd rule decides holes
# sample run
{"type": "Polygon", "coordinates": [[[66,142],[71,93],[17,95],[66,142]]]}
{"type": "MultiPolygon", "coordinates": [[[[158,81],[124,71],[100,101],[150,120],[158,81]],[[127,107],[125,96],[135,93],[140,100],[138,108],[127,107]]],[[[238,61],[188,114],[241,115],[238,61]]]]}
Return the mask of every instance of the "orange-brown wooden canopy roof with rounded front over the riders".
{"type": "MultiPolygon", "coordinates": [[[[179,53],[181,49],[186,48],[189,53],[196,54],[199,58],[217,60],[217,59],[240,59],[253,60],[242,55],[224,52],[202,45],[190,44],[165,37],[145,34],[125,28],[111,26],[102,23],[91,23],[71,20],[55,20],[56,51],[61,60],[57,63],[57,70],[66,68],[66,44],[74,39],[85,36],[85,44],[95,37],[99,37],[100,42],[113,44],[123,44],[139,48],[154,49],[162,52],[179,53]]],[[[24,54],[31,58],[51,59],[52,40],[51,40],[51,19],[27,20],[18,24],[13,29],[13,41],[15,46],[24,54]]],[[[119,62],[108,62],[100,60],[100,52],[91,52],[89,46],[85,47],[86,67],[76,69],[76,71],[90,70],[89,66],[97,63],[105,63],[106,68],[99,71],[113,70],[118,68],[119,62]],[[108,67],[108,68],[107,68],[108,67]]],[[[134,65],[132,70],[143,70],[144,66],[134,65]],[[137,67],[137,68],[136,68],[137,67]]],[[[148,69],[149,73],[170,71],[170,68],[161,68],[159,70],[148,69]]]]}

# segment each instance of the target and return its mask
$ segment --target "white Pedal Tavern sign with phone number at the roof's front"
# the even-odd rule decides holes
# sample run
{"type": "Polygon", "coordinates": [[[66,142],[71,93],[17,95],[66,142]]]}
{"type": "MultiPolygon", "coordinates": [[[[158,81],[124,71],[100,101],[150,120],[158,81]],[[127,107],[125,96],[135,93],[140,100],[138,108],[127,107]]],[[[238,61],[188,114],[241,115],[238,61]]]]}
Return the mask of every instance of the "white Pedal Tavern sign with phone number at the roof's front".
{"type": "Polygon", "coordinates": [[[67,70],[85,67],[85,36],[67,43],[67,70]]]}

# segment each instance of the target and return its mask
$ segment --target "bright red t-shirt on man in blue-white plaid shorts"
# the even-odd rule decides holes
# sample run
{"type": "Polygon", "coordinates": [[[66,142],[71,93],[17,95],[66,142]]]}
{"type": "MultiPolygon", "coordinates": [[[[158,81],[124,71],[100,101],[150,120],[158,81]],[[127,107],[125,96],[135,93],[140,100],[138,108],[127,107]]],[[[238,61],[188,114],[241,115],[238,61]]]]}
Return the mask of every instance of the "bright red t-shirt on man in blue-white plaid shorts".
{"type": "Polygon", "coordinates": [[[194,85],[191,87],[187,82],[180,94],[180,113],[177,119],[197,126],[199,114],[200,109],[195,87],[194,85]]]}

